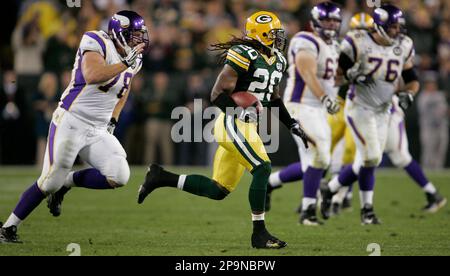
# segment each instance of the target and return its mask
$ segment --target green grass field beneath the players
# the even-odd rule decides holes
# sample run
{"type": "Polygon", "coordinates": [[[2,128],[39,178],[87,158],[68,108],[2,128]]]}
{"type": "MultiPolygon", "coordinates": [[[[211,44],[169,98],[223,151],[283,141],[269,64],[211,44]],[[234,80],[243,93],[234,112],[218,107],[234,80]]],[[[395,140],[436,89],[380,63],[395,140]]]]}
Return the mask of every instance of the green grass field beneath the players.
{"type": "MultiPolygon", "coordinates": [[[[175,170],[211,173],[209,168],[175,170]]],[[[24,243],[0,244],[0,255],[69,255],[70,243],[80,245],[81,255],[369,255],[370,243],[380,245],[381,255],[450,255],[450,209],[423,214],[425,197],[403,171],[377,173],[375,210],[383,221],[380,226],[360,225],[358,196],[352,212],[323,227],[301,226],[294,213],[301,186],[275,191],[266,215],[268,229],[288,242],[288,247],[276,251],[250,246],[250,175],[220,202],[163,188],[138,205],[136,194],[144,173],[143,167],[132,168],[129,184],[114,191],[72,189],[59,218],[41,204],[20,227],[24,243]]],[[[32,168],[0,169],[1,221],[38,175],[32,168]]],[[[450,197],[450,171],[430,172],[429,177],[450,197]]]]}

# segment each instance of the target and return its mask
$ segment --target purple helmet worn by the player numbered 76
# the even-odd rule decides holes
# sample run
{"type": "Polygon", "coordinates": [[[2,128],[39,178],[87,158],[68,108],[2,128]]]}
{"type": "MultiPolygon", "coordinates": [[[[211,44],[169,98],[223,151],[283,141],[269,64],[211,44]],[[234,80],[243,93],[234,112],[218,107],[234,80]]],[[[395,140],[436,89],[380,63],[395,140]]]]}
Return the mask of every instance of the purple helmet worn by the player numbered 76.
{"type": "Polygon", "coordinates": [[[389,44],[394,44],[397,37],[389,36],[388,29],[394,24],[400,24],[400,29],[403,32],[405,26],[403,12],[394,5],[385,4],[376,8],[372,17],[377,33],[386,39],[389,44]]]}

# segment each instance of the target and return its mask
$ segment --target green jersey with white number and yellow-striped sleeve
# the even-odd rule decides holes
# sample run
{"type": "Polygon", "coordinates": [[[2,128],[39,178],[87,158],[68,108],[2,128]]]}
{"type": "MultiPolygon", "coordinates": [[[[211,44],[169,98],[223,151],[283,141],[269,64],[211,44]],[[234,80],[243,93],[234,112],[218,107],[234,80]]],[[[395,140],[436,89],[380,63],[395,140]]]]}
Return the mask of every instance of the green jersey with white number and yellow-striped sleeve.
{"type": "Polygon", "coordinates": [[[287,68],[286,58],[276,51],[272,57],[256,51],[250,46],[235,45],[228,49],[225,64],[238,72],[234,92],[248,91],[258,98],[263,106],[271,100],[287,68]]]}

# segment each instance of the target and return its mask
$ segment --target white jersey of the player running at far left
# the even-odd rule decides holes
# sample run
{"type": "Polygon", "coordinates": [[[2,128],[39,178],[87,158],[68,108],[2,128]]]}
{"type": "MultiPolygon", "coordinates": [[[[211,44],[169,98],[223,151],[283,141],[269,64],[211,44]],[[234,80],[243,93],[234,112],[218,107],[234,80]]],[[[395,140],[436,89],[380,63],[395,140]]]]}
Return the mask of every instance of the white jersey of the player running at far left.
{"type": "Polygon", "coordinates": [[[142,67],[142,57],[138,58],[138,66],[134,69],[130,67],[104,83],[87,84],[81,71],[83,54],[87,51],[100,53],[107,65],[121,62],[120,55],[107,33],[86,32],[75,58],[72,80],[62,94],[59,106],[91,125],[106,125],[117,102],[128,91],[132,77],[142,67]]]}

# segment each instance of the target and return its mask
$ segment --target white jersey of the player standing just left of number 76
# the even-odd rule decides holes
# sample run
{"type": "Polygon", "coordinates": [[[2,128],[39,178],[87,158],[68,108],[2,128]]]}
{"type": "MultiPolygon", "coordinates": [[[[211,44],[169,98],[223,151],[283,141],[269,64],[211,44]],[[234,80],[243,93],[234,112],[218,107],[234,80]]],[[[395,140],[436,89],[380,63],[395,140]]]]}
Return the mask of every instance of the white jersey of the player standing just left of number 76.
{"type": "Polygon", "coordinates": [[[308,51],[317,59],[317,78],[326,94],[335,97],[336,69],[339,58],[339,44],[333,41],[327,44],[321,37],[311,32],[299,32],[289,44],[289,78],[284,92],[285,102],[296,102],[312,106],[321,106],[320,100],[306,86],[295,65],[295,55],[299,51],[308,51]]]}

